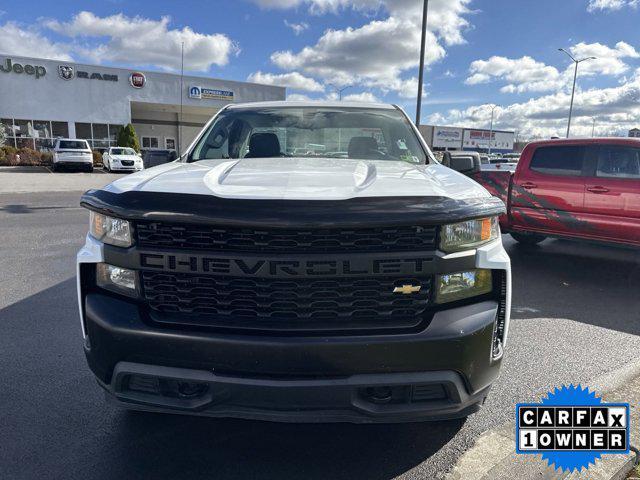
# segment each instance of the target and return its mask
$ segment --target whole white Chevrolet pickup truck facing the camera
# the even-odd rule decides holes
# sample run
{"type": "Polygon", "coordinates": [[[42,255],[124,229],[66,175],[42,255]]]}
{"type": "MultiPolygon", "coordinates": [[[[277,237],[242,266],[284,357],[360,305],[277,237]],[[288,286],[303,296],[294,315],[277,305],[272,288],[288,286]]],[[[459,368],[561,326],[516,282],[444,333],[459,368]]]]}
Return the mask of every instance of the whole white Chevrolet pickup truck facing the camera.
{"type": "Polygon", "coordinates": [[[396,106],[231,104],[179,161],[81,204],[85,353],[120,405],[433,420],[476,411],[498,376],[504,204],[436,162],[396,106]],[[336,125],[348,158],[284,153],[334,145],[336,125]]]}

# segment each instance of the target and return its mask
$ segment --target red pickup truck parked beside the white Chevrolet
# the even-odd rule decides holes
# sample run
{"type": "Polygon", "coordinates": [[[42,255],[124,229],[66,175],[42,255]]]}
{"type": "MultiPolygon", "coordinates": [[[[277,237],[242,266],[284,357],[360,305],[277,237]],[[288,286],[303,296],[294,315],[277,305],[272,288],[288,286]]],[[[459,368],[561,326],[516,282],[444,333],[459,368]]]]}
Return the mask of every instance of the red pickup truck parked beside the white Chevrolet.
{"type": "Polygon", "coordinates": [[[515,172],[472,177],[507,205],[500,226],[518,242],[561,237],[640,246],[640,139],[533,142],[515,172]]]}

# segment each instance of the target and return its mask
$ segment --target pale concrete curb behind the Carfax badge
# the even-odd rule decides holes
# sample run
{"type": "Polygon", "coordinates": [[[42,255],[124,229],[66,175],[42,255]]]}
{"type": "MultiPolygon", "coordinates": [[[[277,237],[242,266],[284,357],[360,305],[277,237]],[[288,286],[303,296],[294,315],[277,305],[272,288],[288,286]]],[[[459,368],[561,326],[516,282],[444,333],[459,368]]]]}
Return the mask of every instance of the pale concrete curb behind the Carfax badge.
{"type": "MultiPolygon", "coordinates": [[[[596,390],[607,402],[628,402],[630,404],[630,425],[640,423],[640,359],[627,363],[613,372],[582,383],[596,390]]],[[[631,444],[638,445],[638,429],[631,431],[631,444]]],[[[539,455],[518,455],[515,453],[515,422],[509,421],[484,432],[474,445],[459,459],[445,476],[447,480],[524,480],[528,478],[544,480],[624,480],[633,467],[635,454],[607,455],[595,466],[582,472],[567,473],[554,470],[539,455]]]]}

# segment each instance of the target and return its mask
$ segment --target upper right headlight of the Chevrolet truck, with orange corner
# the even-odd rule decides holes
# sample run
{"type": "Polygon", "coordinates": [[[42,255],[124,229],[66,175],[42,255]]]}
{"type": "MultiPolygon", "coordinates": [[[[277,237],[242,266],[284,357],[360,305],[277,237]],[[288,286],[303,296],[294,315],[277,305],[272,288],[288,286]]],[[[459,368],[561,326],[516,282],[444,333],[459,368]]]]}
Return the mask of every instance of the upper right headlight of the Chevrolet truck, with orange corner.
{"type": "Polygon", "coordinates": [[[500,236],[498,217],[479,218],[466,222],[443,225],[440,233],[440,249],[459,252],[479,247],[500,236]]]}

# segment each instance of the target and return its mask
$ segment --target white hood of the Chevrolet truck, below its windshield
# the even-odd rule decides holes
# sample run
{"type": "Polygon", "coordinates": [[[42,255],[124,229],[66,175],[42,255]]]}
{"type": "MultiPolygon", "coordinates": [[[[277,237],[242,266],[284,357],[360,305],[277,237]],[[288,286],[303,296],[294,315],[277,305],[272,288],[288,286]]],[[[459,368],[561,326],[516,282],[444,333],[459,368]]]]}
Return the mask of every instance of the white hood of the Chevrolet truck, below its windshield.
{"type": "Polygon", "coordinates": [[[439,164],[334,158],[245,158],[171,162],[106,186],[129,191],[209,194],[231,199],[346,200],[357,197],[489,197],[466,176],[439,164]]]}

